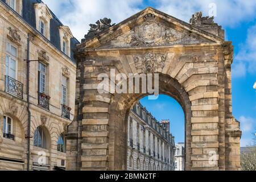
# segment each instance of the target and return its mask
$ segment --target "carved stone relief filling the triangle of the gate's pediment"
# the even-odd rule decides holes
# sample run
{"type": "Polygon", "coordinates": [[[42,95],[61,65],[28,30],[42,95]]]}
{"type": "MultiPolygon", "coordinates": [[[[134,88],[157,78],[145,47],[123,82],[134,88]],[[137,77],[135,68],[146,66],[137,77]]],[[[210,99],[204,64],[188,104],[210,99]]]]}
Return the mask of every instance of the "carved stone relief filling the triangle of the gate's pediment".
{"type": "Polygon", "coordinates": [[[158,22],[155,15],[148,14],[144,19],[145,22],[138,27],[112,40],[112,46],[163,46],[202,42],[194,35],[177,31],[158,22]]]}

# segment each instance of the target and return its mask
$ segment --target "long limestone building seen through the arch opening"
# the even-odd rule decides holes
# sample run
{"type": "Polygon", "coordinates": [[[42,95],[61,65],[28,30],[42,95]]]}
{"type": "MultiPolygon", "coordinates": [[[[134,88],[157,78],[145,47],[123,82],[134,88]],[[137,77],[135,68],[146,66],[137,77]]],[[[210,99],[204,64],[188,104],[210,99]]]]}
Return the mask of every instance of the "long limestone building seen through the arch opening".
{"type": "Polygon", "coordinates": [[[174,137],[139,102],[128,117],[127,170],[174,171],[174,137]]]}

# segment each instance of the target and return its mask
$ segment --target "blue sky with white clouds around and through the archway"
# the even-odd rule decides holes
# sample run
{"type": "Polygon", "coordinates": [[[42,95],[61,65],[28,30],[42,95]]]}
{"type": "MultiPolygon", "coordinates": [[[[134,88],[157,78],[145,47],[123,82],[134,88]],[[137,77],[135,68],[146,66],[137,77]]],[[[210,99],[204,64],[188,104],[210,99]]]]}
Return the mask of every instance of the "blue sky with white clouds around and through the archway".
{"type": "MultiPolygon", "coordinates": [[[[216,23],[226,34],[226,40],[234,45],[232,65],[233,115],[241,122],[243,130],[241,145],[250,143],[256,127],[256,1],[255,0],[44,0],[61,22],[71,28],[73,35],[82,39],[89,30],[89,24],[100,18],[111,18],[113,23],[121,22],[148,6],[188,22],[196,11],[209,14],[210,7],[216,7],[216,23]],[[213,4],[214,3],[214,4],[213,4]]],[[[157,119],[171,119],[171,131],[176,142],[183,140],[184,116],[181,107],[171,98],[161,96],[156,102],[144,99],[142,104],[157,119]],[[158,105],[156,105],[156,102],[158,105]],[[152,104],[153,103],[153,104],[152,104]],[[167,110],[167,109],[168,110],[167,110]]]]}

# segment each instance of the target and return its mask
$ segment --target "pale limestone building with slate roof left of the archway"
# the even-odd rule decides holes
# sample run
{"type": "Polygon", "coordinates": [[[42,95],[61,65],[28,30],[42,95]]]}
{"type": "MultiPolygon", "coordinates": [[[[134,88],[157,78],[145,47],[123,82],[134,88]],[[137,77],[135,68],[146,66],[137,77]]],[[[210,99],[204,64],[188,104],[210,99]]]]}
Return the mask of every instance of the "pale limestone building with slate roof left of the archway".
{"type": "Polygon", "coordinates": [[[28,139],[31,170],[65,168],[64,134],[75,115],[76,63],[70,51],[79,42],[44,3],[14,2],[0,1],[0,169],[27,169],[28,139]],[[58,35],[65,35],[66,50],[58,35]],[[36,60],[30,62],[30,135],[28,59],[36,60]]]}

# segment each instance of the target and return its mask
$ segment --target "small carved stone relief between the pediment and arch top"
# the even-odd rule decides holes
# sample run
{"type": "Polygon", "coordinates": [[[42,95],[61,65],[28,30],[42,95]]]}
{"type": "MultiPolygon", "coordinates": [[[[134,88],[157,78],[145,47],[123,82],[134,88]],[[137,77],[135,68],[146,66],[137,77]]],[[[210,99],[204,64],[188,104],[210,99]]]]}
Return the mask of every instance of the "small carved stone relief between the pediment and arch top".
{"type": "Polygon", "coordinates": [[[134,57],[134,63],[136,69],[142,69],[145,73],[153,73],[158,68],[164,68],[166,62],[166,56],[164,54],[146,53],[145,55],[137,55],[134,57]]]}

